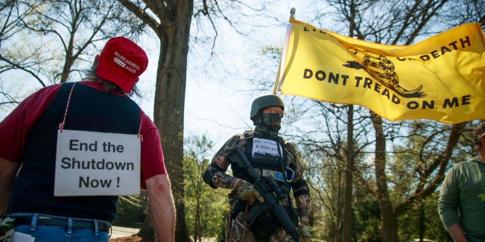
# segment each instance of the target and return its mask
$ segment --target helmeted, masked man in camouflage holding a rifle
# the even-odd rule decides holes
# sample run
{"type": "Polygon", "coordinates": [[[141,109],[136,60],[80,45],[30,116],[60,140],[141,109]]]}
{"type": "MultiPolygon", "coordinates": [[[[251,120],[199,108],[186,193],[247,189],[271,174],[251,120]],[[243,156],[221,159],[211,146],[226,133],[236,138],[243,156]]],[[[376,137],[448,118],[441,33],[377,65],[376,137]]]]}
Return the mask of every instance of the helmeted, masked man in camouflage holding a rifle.
{"type": "Polygon", "coordinates": [[[226,222],[227,242],[294,242],[294,239],[274,218],[271,211],[263,212],[250,226],[246,214],[264,199],[252,184],[255,179],[247,170],[229,156],[235,148],[241,147],[244,154],[261,176],[273,176],[278,185],[285,186],[288,193],[280,200],[289,218],[297,225],[302,242],[309,242],[308,206],[309,190],[303,179],[302,165],[295,146],[278,136],[281,129],[284,105],[276,95],[255,98],[251,107],[254,130],[233,135],[215,154],[211,164],[204,171],[204,182],[212,188],[232,189],[229,194],[230,214],[226,222]],[[226,173],[229,165],[233,176],[226,173]],[[290,188],[296,201],[293,208],[290,188]]]}

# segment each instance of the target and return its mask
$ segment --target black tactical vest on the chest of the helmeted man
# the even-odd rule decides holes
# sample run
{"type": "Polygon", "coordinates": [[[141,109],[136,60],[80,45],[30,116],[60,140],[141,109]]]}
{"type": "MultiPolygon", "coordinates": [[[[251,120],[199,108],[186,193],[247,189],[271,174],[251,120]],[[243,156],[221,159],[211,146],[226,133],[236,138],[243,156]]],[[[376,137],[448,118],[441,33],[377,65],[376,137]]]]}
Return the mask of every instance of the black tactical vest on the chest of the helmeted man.
{"type": "MultiPolygon", "coordinates": [[[[253,168],[255,169],[256,173],[261,177],[272,175],[273,178],[275,178],[275,180],[279,183],[279,185],[284,184],[283,172],[285,172],[286,168],[286,164],[284,161],[286,160],[287,153],[286,150],[284,150],[282,144],[278,141],[276,142],[278,144],[279,156],[259,153],[255,153],[255,155],[253,156],[254,131],[245,131],[244,136],[247,140],[244,153],[253,168]]],[[[232,161],[230,161],[230,166],[234,177],[254,183],[255,179],[249,175],[246,168],[241,167],[236,162],[232,161]]]]}

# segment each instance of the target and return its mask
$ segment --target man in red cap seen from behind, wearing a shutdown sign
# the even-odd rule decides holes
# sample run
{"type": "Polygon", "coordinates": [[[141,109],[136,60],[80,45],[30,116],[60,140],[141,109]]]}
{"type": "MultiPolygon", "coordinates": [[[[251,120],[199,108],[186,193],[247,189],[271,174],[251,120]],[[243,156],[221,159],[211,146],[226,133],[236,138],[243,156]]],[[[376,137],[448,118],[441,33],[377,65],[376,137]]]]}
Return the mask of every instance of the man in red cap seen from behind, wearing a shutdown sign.
{"type": "Polygon", "coordinates": [[[147,65],[142,48],[112,38],[87,80],[43,88],[0,122],[0,213],[14,236],[108,241],[118,195],[141,187],[158,241],[174,241],[158,130],[128,97],[147,65]]]}

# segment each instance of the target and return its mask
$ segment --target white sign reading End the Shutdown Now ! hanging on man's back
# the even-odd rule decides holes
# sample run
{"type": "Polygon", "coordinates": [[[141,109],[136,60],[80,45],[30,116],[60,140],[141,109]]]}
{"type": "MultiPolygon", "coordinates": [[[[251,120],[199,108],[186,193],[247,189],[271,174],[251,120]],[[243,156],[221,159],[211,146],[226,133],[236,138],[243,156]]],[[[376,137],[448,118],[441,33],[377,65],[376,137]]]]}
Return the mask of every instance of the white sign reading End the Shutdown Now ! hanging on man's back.
{"type": "Polygon", "coordinates": [[[139,194],[140,155],[137,135],[58,130],[54,196],[139,194]]]}

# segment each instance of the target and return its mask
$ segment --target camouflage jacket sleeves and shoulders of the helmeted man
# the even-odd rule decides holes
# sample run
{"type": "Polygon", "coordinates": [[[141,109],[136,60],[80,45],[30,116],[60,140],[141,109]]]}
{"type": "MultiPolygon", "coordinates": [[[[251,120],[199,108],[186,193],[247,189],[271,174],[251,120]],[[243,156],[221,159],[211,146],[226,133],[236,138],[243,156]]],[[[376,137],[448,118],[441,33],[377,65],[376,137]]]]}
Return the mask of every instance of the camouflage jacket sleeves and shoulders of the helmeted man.
{"type": "MultiPolygon", "coordinates": [[[[255,137],[258,137],[257,134],[255,134],[255,137]]],[[[228,155],[231,153],[232,150],[234,150],[237,146],[240,146],[243,151],[245,151],[245,145],[248,142],[248,140],[244,137],[244,134],[234,134],[226,143],[217,151],[217,153],[214,155],[214,158],[212,158],[212,162],[209,166],[207,166],[206,172],[210,172],[212,169],[215,169],[213,166],[219,167],[221,170],[217,172],[210,172],[213,173],[212,176],[212,184],[216,187],[219,188],[227,188],[227,189],[233,189],[234,182],[238,179],[236,177],[233,177],[229,174],[226,173],[227,169],[230,166],[230,161],[227,159],[228,155]]],[[[296,154],[296,149],[295,146],[283,140],[281,137],[278,137],[277,140],[278,143],[283,144],[283,149],[286,150],[287,156],[286,156],[286,167],[289,167],[290,164],[292,164],[292,167],[295,168],[295,177],[292,179],[290,182],[290,185],[296,184],[298,181],[303,180],[303,171],[302,171],[302,165],[300,161],[298,160],[298,156],[296,154]]],[[[229,203],[232,205],[234,202],[234,196],[237,193],[237,191],[232,190],[231,193],[229,194],[229,203]]],[[[293,189],[293,195],[295,196],[295,205],[296,208],[298,209],[298,214],[300,219],[302,218],[308,218],[308,206],[310,203],[310,197],[309,197],[309,190],[308,186],[304,185],[299,188],[293,189]],[[306,190],[306,191],[305,191],[306,190]]],[[[283,207],[288,207],[289,202],[288,199],[283,199],[280,201],[281,206],[283,207]]]]}

